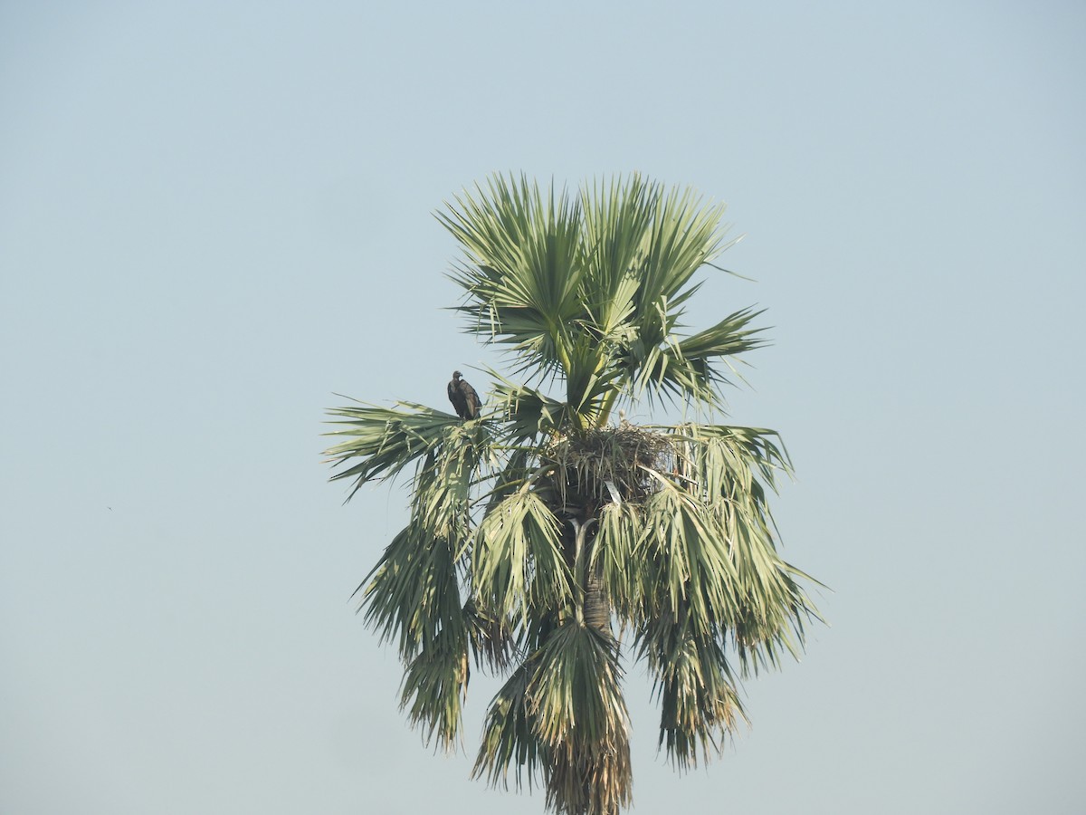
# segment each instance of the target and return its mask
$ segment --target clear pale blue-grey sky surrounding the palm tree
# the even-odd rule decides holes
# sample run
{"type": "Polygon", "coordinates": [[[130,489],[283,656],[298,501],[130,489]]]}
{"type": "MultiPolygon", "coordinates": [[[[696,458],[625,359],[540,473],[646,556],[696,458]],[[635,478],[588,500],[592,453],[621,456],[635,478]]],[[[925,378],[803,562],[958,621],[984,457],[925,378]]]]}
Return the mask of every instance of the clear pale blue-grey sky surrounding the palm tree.
{"type": "MultiPolygon", "coordinates": [[[[542,811],[396,710],[350,594],[406,517],[324,411],[447,410],[432,217],[495,171],[729,202],[694,328],[830,626],[635,812],[1081,813],[1086,5],[0,3],[0,813],[542,811]]],[[[642,416],[644,417],[644,416],[642,416]]]]}

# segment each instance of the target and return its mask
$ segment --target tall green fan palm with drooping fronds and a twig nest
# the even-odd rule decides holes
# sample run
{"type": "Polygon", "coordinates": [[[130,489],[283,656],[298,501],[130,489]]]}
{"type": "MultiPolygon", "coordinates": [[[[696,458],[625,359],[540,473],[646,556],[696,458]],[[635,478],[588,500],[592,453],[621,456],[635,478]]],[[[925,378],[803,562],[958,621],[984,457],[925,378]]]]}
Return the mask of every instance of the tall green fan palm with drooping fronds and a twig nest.
{"type": "Polygon", "coordinates": [[[556,813],[631,801],[623,664],[647,667],[682,770],[745,720],[738,681],[817,618],[774,544],[778,435],[709,421],[730,360],[762,344],[757,313],[680,331],[731,244],[723,211],[640,176],[578,193],[492,177],[438,214],[464,250],[457,311],[510,362],[479,417],[330,411],[351,496],[413,467],[409,521],[356,591],[399,648],[412,724],[453,747],[471,665],[496,672],[473,775],[541,785],[556,813]],[[624,421],[641,402],[704,421],[624,421]]]}

